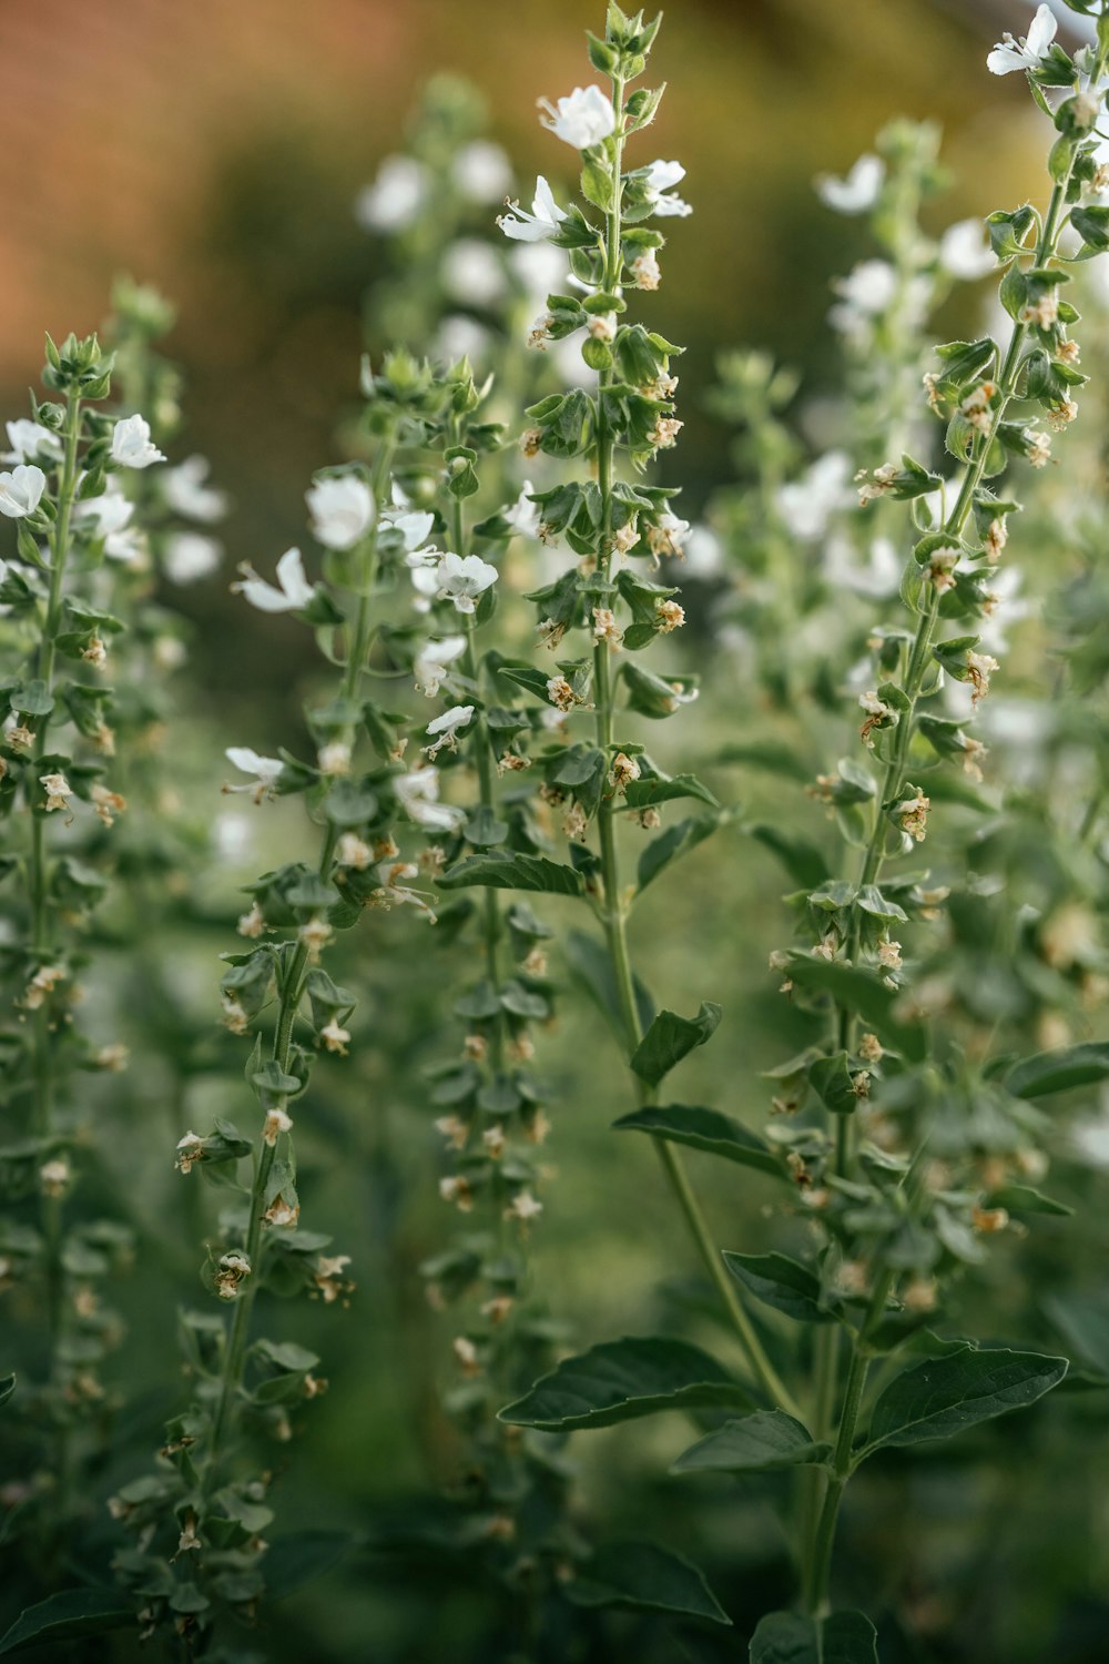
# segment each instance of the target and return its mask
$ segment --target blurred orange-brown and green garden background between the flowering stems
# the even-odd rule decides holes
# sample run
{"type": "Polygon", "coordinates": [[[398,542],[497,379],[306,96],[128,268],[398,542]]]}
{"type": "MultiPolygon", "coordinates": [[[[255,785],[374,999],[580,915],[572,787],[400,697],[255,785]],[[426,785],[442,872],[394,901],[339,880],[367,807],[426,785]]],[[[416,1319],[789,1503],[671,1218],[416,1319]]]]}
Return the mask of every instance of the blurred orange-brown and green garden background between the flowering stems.
{"type": "MultiPolygon", "coordinates": [[[[685,486],[687,518],[698,518],[733,473],[730,436],[710,419],[705,399],[722,349],[760,346],[796,366],[813,406],[836,393],[843,371],[840,343],[826,328],[830,285],[873,246],[861,221],[816,203],[815,175],[845,173],[878,128],[909,116],[941,123],[941,156],[951,170],[949,191],[928,208],[929,231],[1041,190],[1042,130],[1026,88],[1019,77],[984,72],[999,32],[1023,33],[1031,12],[1024,0],[680,0],[667,10],[655,63],[670,92],[637,160],[680,158],[688,170],[683,195],[695,208],[692,220],[673,223],[665,285],[650,298],[652,323],[688,349],[687,429],[665,463],[667,478],[685,486]]],[[[1062,17],[1064,28],[1076,22],[1062,17]]],[[[600,23],[600,0],[0,0],[0,156],[10,181],[0,211],[0,413],[25,414],[43,331],[57,338],[96,328],[116,273],[156,285],[178,305],[168,351],[185,374],[186,424],[173,459],[209,456],[233,504],[219,529],[224,572],[173,592],[175,609],[196,626],[191,676],[178,686],[181,707],[195,711],[200,701],[208,717],[200,737],[196,729],[188,735],[190,750],[203,752],[198,777],[211,780],[228,740],[259,752],[288,742],[289,712],[313,674],[308,632],[244,607],[228,582],[238,561],[269,572],[273,559],[304,537],[303,493],[314,469],[344,454],[338,433],[357,406],[359,354],[369,346],[379,356],[386,344],[372,295],[394,273],[396,251],[357,225],[359,191],[382,158],[404,146],[421,90],[439,70],[464,75],[484,95],[484,131],[512,158],[514,195],[529,201],[539,170],[572,188],[574,158],[539,126],[535,100],[594,78],[582,32],[600,23]]],[[[565,190],[560,195],[565,200],[565,190]]],[[[981,324],[981,291],[978,300],[961,293],[946,303],[938,339],[981,324]]],[[[692,622],[702,627],[697,614],[692,622]]],[[[685,762],[688,732],[667,734],[673,767],[685,762]]],[[[725,737],[723,729],[702,729],[698,750],[725,737]]],[[[776,790],[771,782],[763,794],[770,814],[776,790]]],[[[289,855],[301,837],[298,815],[296,805],[283,805],[264,830],[243,815],[228,829],[228,865],[203,897],[211,929],[183,932],[178,945],[181,1003],[200,1013],[198,1025],[214,1005],[214,953],[229,945],[239,905],[234,882],[264,859],[289,855]]],[[[818,835],[821,822],[813,809],[818,835]]],[[[730,837],[683,870],[678,899],[650,927],[652,982],[660,1000],[680,1010],[720,985],[728,1013],[737,1013],[685,1067],[683,1092],[688,1102],[758,1120],[766,1090],[757,1070],[808,1038],[765,975],[766,948],[788,934],[781,875],[750,840],[730,837]],[[720,919],[728,929],[708,938],[705,920],[720,919]]],[[[545,912],[562,927],[557,905],[545,912]]],[[[301,1524],[347,1528],[364,1546],[397,1541],[397,1521],[407,1529],[452,1456],[437,1409],[451,1328],[424,1306],[416,1266],[447,1233],[419,1082],[421,1068],[456,1043],[437,1005],[441,980],[457,978],[461,967],[429,960],[412,934],[409,920],[374,924],[351,975],[367,990],[364,1032],[389,1028],[387,1050],[357,1048],[346,1072],[324,1063],[316,1132],[304,1140],[306,1213],[311,1208],[313,1225],[334,1228],[338,1246],[354,1255],[352,1316],[336,1321],[336,1313],[311,1308],[288,1320],[289,1331],[324,1354],[333,1389],[293,1453],[283,1508],[301,1524]]],[[[168,1112],[168,1140],[176,1118],[193,1125],[233,1108],[234,1088],[205,1073],[226,1058],[239,1067],[238,1053],[219,1045],[201,1042],[205,1063],[181,1102],[155,1102],[165,1087],[158,1075],[126,1088],[133,1113],[168,1112]]],[[[557,1316],[572,1315],[584,1346],[670,1321],[675,1286],[688,1281],[692,1266],[677,1228],[660,1218],[667,1201],[652,1188],[650,1151],[627,1150],[609,1133],[627,1105],[600,1022],[570,1010],[550,1050],[560,1060],[554,1102],[564,1120],[552,1160],[562,1183],[535,1235],[537,1285],[557,1316]],[[657,1295],[660,1280],[670,1283],[657,1295]]],[[[191,1250],[181,1253],[181,1241],[196,1240],[195,1200],[181,1201],[178,1185],[166,1203],[161,1168],[146,1188],[150,1165],[138,1150],[116,1150],[115,1160],[130,1175],[145,1238],[156,1241],[160,1230],[166,1238],[170,1221],[175,1246],[163,1240],[158,1263],[171,1263],[185,1298],[196,1300],[191,1250]]],[[[770,1213],[762,1180],[745,1183],[737,1218],[735,1186],[718,1173],[703,1178],[722,1238],[733,1231],[762,1240],[770,1213]]],[[[1074,1200],[1082,1195],[1079,1180],[1074,1200]]],[[[1067,1253],[1061,1230],[1047,1221],[1034,1250],[1044,1278],[1067,1253]]],[[[1101,1246],[1087,1241],[1091,1263],[1101,1246]]],[[[1006,1266],[1003,1260],[979,1298],[1001,1328],[1011,1320],[1023,1333],[1028,1283],[1006,1266]]],[[[171,1315],[161,1296],[145,1293],[140,1278],[125,1300],[133,1333],[153,1326],[170,1348],[171,1315]]],[[[143,1361],[135,1350],[130,1368],[135,1446],[106,1468],[105,1494],[141,1471],[135,1449],[141,1456],[158,1444],[175,1408],[165,1399],[163,1359],[143,1361]]],[[[732,1611],[758,1612],[788,1599],[766,1493],[745,1488],[742,1508],[723,1488],[710,1506],[703,1496],[677,1496],[663,1474],[683,1433],[643,1426],[602,1434],[577,1453],[585,1513],[595,1509],[614,1529],[633,1531],[645,1514],[665,1521],[672,1541],[712,1569],[732,1611]]],[[[1104,1443],[1091,1426],[1091,1443],[1104,1443]]],[[[1013,1438],[1018,1446],[1038,1441],[1041,1464],[1072,1463],[1079,1444],[1072,1433],[1051,1424],[1029,1431],[1026,1421],[1013,1438]]],[[[1077,1486],[1079,1476],[1067,1471],[1077,1486]]],[[[878,1554],[890,1587],[900,1587],[911,1621],[890,1619],[883,1657],[1104,1659],[1106,1607],[1094,1592],[1106,1569],[1104,1508],[1094,1476],[1094,1468],[1084,1473],[1087,1488],[1076,1493],[1069,1528],[1054,1521],[1051,1543],[1042,1474],[1021,1489],[1018,1479],[964,1476],[956,1456],[928,1473],[906,1464],[875,1481],[866,1519],[848,1521],[856,1558],[846,1576],[865,1587],[878,1554]],[[1016,1586],[1019,1602],[1006,1592],[1016,1586]]],[[[289,1602],[286,1627],[269,1631],[258,1656],[499,1664],[500,1652],[482,1651],[481,1594],[467,1587],[466,1569],[429,1566],[419,1554],[356,1559],[341,1594],[331,1579],[289,1602]]],[[[650,1646],[657,1651],[647,1641],[640,1651],[628,1629],[612,1657],[712,1664],[743,1654],[738,1639],[720,1652],[700,1641],[685,1652],[665,1641],[650,1646]]],[[[120,1642],[111,1656],[131,1652],[120,1642]]]]}

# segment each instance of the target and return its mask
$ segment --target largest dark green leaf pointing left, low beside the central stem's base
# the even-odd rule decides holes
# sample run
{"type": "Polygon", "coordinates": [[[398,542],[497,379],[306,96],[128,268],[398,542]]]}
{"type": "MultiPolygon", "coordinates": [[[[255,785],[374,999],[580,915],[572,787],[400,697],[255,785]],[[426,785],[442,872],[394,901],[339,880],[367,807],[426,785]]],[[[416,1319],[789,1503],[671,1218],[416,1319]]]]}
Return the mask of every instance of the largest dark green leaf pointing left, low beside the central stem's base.
{"type": "Polygon", "coordinates": [[[532,1389],[500,1411],[517,1428],[560,1433],[570,1428],[610,1428],[619,1421],[653,1416],[662,1409],[712,1404],[753,1408],[747,1388],[688,1341],[625,1336],[602,1341],[535,1381],[532,1389]]]}

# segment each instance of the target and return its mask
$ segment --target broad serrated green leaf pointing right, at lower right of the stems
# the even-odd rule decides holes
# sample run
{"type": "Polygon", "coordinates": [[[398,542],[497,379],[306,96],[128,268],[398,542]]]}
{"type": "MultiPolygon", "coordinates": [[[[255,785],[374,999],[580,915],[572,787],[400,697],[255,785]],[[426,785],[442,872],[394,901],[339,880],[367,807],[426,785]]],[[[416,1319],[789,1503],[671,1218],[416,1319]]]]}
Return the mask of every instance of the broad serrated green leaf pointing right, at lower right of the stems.
{"type": "Polygon", "coordinates": [[[883,1444],[949,1439],[964,1428],[1023,1409],[1057,1386],[1066,1358],[1041,1353],[966,1351],[906,1369],[875,1404],[865,1454],[883,1444]]]}

